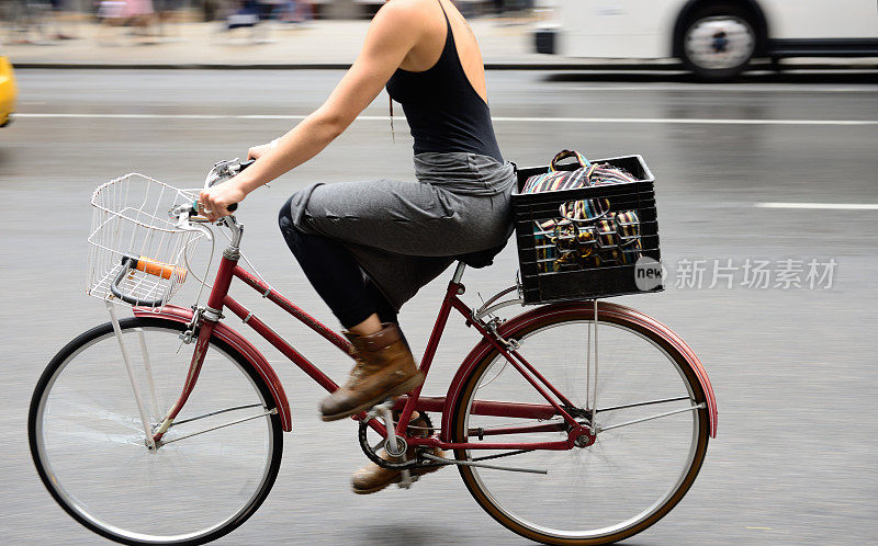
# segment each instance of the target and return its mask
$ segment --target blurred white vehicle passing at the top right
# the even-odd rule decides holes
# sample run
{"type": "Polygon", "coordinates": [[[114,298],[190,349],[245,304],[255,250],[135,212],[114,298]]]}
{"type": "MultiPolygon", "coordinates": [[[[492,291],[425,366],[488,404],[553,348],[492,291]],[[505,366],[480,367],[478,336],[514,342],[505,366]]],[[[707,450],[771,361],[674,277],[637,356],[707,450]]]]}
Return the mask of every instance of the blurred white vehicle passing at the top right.
{"type": "Polygon", "coordinates": [[[878,0],[555,0],[537,50],[567,57],[677,57],[707,79],[754,57],[878,57],[878,0]]]}

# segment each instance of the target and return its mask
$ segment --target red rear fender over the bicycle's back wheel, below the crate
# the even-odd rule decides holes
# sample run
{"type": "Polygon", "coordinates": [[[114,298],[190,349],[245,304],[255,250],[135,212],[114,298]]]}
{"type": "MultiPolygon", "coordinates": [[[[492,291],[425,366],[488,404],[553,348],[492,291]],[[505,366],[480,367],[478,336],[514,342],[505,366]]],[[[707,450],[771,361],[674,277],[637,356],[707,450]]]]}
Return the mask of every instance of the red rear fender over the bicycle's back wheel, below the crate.
{"type": "MultiPolygon", "coordinates": [[[[534,320],[543,319],[548,312],[572,312],[581,309],[583,304],[558,304],[551,307],[537,307],[530,311],[522,312],[521,315],[514,317],[506,322],[504,322],[498,329],[498,333],[506,338],[511,332],[518,330],[519,328],[524,328],[529,326],[534,320]]],[[[590,304],[589,304],[590,308],[590,304]]],[[[644,328],[658,337],[665,339],[668,343],[671,343],[674,349],[676,349],[686,360],[686,364],[695,372],[696,377],[698,377],[698,383],[701,386],[701,390],[705,393],[705,399],[708,406],[708,416],[709,416],[709,430],[710,430],[710,437],[717,437],[717,398],[713,395],[713,387],[710,385],[710,379],[707,376],[707,371],[701,365],[701,361],[698,360],[695,352],[683,341],[679,335],[674,333],[669,328],[664,326],[663,323],[658,322],[654,318],[640,312],[635,309],[630,307],[624,307],[622,305],[610,304],[606,302],[598,303],[598,314],[611,316],[614,318],[621,319],[623,322],[629,322],[641,328],[644,328]]],[[[451,419],[453,413],[453,408],[457,407],[458,398],[460,397],[461,390],[463,388],[464,379],[470,375],[473,368],[494,350],[494,346],[487,341],[482,340],[476,344],[470,354],[463,360],[463,364],[461,364],[458,373],[454,375],[454,379],[451,382],[451,385],[448,388],[448,394],[446,395],[446,411],[442,414],[442,440],[446,442],[450,442],[451,437],[451,419]]]]}

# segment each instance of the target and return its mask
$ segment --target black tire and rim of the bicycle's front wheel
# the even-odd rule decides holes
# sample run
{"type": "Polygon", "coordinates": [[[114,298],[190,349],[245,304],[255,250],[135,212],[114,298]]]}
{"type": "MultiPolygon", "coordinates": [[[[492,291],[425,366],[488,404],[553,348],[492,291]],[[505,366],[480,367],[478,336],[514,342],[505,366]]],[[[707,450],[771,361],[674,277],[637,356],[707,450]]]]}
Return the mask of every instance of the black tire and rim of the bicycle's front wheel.
{"type": "MultiPolygon", "coordinates": [[[[125,318],[120,320],[120,326],[123,335],[125,333],[131,333],[132,331],[136,332],[137,329],[139,329],[140,331],[147,331],[147,332],[157,331],[161,333],[170,333],[175,338],[179,339],[180,332],[185,330],[185,325],[176,321],[170,321],[167,319],[153,318],[153,317],[125,318]]],[[[120,527],[113,524],[112,522],[106,522],[101,519],[98,519],[94,514],[89,513],[88,511],[86,511],[86,509],[83,509],[80,499],[76,498],[72,494],[72,492],[67,491],[65,489],[64,482],[59,481],[58,477],[55,474],[55,469],[52,467],[52,464],[47,462],[46,459],[47,448],[46,445],[44,445],[45,439],[42,437],[42,434],[45,433],[44,428],[46,426],[44,423],[46,400],[50,399],[53,387],[56,385],[58,377],[61,376],[65,369],[71,365],[70,363],[76,363],[76,359],[80,356],[80,354],[88,351],[88,349],[90,348],[100,346],[100,342],[102,341],[110,341],[112,343],[115,343],[114,338],[115,335],[113,332],[112,325],[110,322],[100,325],[98,327],[92,328],[91,330],[88,330],[87,332],[83,332],[82,334],[70,341],[64,349],[61,349],[55,355],[55,357],[52,359],[48,366],[43,372],[43,375],[41,376],[40,380],[37,382],[33,397],[31,399],[29,421],[27,421],[27,435],[31,448],[31,456],[33,458],[37,474],[40,475],[40,478],[43,481],[43,485],[52,494],[53,499],[71,517],[74,517],[74,520],[76,520],[90,531],[105,538],[122,544],[185,544],[185,545],[204,544],[230,533],[236,527],[241,525],[245,521],[247,521],[247,519],[249,519],[256,512],[256,510],[264,501],[266,497],[270,492],[271,487],[273,486],[274,480],[278,476],[281,457],[283,454],[283,436],[282,436],[280,418],[277,411],[264,416],[267,418],[267,424],[264,425],[264,430],[267,431],[268,434],[268,440],[266,440],[268,445],[267,448],[268,456],[264,466],[262,467],[263,473],[261,475],[260,481],[258,482],[258,486],[255,489],[255,492],[247,499],[246,503],[241,505],[239,510],[235,511],[235,513],[230,517],[217,522],[215,525],[202,530],[201,532],[189,533],[189,534],[176,533],[170,536],[147,535],[140,532],[125,530],[124,527],[120,527]]],[[[185,345],[185,346],[194,346],[194,345],[185,345]]],[[[244,377],[246,378],[245,380],[249,382],[249,384],[255,387],[256,390],[254,396],[258,397],[264,410],[270,411],[272,409],[275,409],[274,400],[271,396],[271,391],[268,385],[266,385],[266,383],[259,376],[258,372],[252,367],[252,365],[250,365],[247,359],[245,359],[234,346],[229,345],[228,343],[224,342],[223,340],[216,337],[213,337],[211,339],[207,355],[210,356],[214,352],[216,352],[222,356],[227,357],[227,360],[237,367],[237,371],[244,374],[244,377]]],[[[191,354],[191,351],[189,351],[189,354],[191,354]]],[[[188,366],[188,359],[187,359],[187,366],[188,366]]],[[[206,373],[210,374],[210,372],[206,373]]],[[[226,374],[226,375],[229,377],[235,376],[234,374],[226,374]]],[[[204,377],[202,375],[200,380],[202,380],[203,378],[204,377]]],[[[199,385],[201,385],[201,383],[199,383],[199,385]]],[[[181,386],[182,385],[179,385],[179,387],[181,386]]],[[[64,387],[61,387],[61,391],[63,390],[64,387]]],[[[130,386],[128,386],[128,394],[131,395],[130,386]]],[[[134,414],[136,416],[136,411],[134,411],[134,414]]],[[[182,413],[181,416],[178,416],[178,421],[181,419],[181,417],[182,413]]],[[[260,416],[259,418],[254,418],[252,422],[256,423],[255,426],[261,428],[259,423],[263,421],[260,416]]],[[[207,432],[207,434],[200,434],[199,436],[194,437],[205,437],[210,436],[211,434],[216,434],[215,432],[211,431],[212,430],[209,429],[207,431],[205,431],[207,432]]],[[[139,432],[142,435],[142,440],[145,439],[145,434],[142,428],[139,432]]],[[[109,435],[108,440],[110,440],[109,435]]],[[[160,453],[161,450],[166,450],[171,445],[181,446],[184,444],[183,442],[181,442],[180,444],[168,444],[167,446],[157,450],[157,452],[160,453]]],[[[146,450],[145,445],[143,445],[142,448],[146,450]]],[[[214,477],[212,477],[212,479],[214,477]]],[[[223,480],[227,479],[228,479],[227,475],[226,476],[217,475],[215,476],[214,481],[222,482],[223,480]]],[[[193,497],[190,497],[190,499],[191,498],[193,497]]],[[[212,499],[212,502],[217,500],[218,499],[212,499]]],[[[187,513],[173,514],[172,510],[169,509],[166,517],[170,515],[178,515],[180,517],[184,517],[189,514],[187,513]]],[[[158,519],[157,521],[162,522],[164,519],[158,519]]]]}

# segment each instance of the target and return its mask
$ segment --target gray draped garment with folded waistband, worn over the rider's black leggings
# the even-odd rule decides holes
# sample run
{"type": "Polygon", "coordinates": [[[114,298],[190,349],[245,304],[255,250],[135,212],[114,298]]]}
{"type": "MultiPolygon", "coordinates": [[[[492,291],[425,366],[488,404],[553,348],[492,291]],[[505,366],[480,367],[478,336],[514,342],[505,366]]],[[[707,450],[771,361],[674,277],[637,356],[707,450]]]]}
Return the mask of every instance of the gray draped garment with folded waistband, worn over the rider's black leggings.
{"type": "Polygon", "coordinates": [[[342,244],[397,310],[455,257],[499,251],[513,231],[511,163],[419,153],[415,175],[414,183],[313,184],[289,201],[292,227],[342,244]]]}

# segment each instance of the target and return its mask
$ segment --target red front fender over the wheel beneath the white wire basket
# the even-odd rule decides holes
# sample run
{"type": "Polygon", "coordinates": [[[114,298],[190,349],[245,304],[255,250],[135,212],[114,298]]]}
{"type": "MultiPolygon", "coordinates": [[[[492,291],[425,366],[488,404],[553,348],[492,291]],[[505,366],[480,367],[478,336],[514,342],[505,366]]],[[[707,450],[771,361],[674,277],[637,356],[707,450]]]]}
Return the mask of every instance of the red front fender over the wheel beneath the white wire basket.
{"type": "MultiPolygon", "coordinates": [[[[192,320],[192,309],[177,307],[176,305],[167,305],[158,310],[146,307],[135,307],[134,316],[164,318],[185,325],[192,320]]],[[[286,399],[286,393],[284,393],[283,385],[281,385],[278,374],[274,373],[274,368],[272,368],[271,364],[262,356],[262,353],[241,334],[223,322],[217,322],[216,326],[214,326],[213,334],[237,349],[241,356],[252,364],[259,376],[266,382],[266,385],[268,385],[271,396],[274,398],[274,406],[278,408],[278,416],[281,418],[281,428],[284,432],[293,430],[293,420],[290,414],[290,402],[286,399]]]]}

